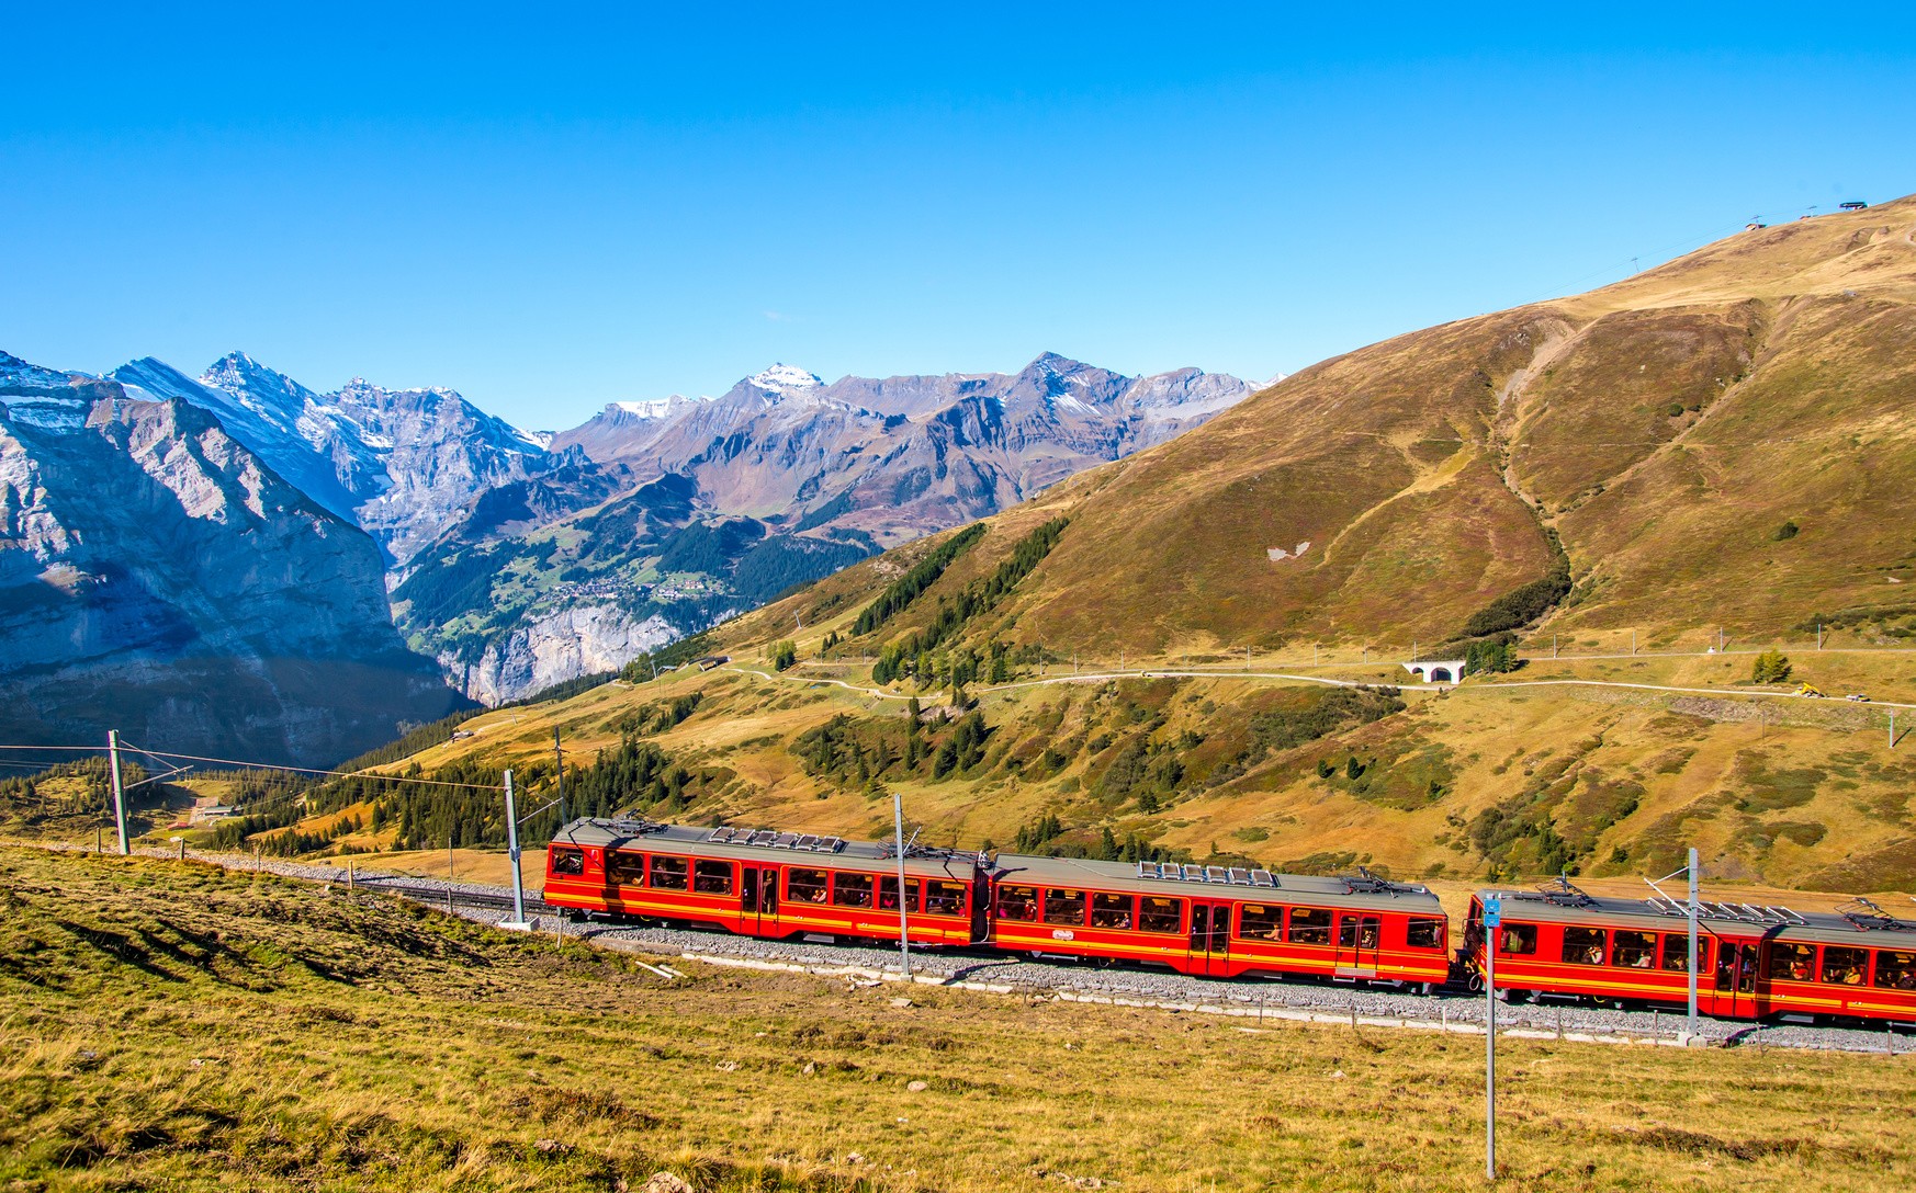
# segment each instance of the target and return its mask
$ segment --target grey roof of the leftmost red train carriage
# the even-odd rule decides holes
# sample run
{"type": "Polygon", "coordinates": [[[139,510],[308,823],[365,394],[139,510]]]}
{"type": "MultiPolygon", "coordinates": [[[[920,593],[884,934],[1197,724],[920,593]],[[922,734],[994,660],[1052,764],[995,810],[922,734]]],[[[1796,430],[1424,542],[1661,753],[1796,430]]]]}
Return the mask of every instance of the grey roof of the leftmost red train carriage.
{"type": "MultiPolygon", "coordinates": [[[[897,873],[899,854],[889,843],[845,841],[818,833],[780,833],[776,829],[697,827],[655,820],[581,818],[552,837],[554,844],[592,848],[632,848],[653,854],[697,854],[728,862],[782,862],[828,869],[868,869],[897,873]]],[[[969,883],[979,856],[964,850],[908,846],[904,873],[969,883]]]]}

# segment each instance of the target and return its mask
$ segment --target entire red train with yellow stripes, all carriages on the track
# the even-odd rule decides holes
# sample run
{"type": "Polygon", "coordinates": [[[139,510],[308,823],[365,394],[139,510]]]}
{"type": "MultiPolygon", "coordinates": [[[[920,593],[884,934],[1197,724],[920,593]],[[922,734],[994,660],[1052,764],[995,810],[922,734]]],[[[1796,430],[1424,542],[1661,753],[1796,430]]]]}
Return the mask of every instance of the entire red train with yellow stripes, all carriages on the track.
{"type": "MultiPolygon", "coordinates": [[[[546,848],[544,900],[573,915],[659,919],[761,938],[897,942],[901,860],[889,843],[640,818],[575,820],[546,848]]],[[[1429,889],[1236,866],[1092,862],[908,844],[902,921],[914,948],[968,948],[1194,977],[1307,977],[1424,994],[1481,990],[1483,900],[1502,894],[1500,998],[1682,1005],[1688,912],[1594,898],[1567,881],[1479,890],[1450,948],[1429,889]]],[[[1699,1009],[1916,1024],[1916,923],[1857,900],[1837,913],[1701,904],[1699,1009]]]]}

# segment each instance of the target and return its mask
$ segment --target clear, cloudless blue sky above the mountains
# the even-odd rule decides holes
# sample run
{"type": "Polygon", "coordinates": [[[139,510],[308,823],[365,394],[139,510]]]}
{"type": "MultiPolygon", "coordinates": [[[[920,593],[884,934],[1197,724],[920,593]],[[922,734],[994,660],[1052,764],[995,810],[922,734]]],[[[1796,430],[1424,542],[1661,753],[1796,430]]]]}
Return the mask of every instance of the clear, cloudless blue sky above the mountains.
{"type": "Polygon", "coordinates": [[[59,8],[0,4],[0,349],[544,429],[774,360],[1268,377],[1916,190],[1870,4],[59,8]]]}

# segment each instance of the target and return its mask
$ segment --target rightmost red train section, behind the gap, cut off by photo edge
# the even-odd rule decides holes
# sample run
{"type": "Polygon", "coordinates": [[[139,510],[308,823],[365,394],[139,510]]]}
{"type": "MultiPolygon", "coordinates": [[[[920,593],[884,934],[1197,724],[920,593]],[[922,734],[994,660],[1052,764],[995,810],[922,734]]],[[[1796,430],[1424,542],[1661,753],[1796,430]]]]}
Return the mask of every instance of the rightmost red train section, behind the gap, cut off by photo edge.
{"type": "MultiPolygon", "coordinates": [[[[1483,900],[1500,896],[1496,988],[1600,1002],[1682,1005],[1690,988],[1686,906],[1600,898],[1558,881],[1479,890],[1464,950],[1483,973],[1483,900]]],[[[1916,923],[1868,900],[1834,913],[1699,902],[1698,1011],[1721,1019],[1826,1015],[1916,1023],[1916,923]]]]}

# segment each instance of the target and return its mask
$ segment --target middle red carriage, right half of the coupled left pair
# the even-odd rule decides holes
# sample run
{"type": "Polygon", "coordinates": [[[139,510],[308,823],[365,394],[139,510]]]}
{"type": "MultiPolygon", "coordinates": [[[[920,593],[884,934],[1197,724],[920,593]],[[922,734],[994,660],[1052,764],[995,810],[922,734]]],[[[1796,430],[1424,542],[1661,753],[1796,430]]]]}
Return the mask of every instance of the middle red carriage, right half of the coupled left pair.
{"type": "Polygon", "coordinates": [[[1198,977],[1418,986],[1448,977],[1437,896],[1370,875],[998,854],[991,885],[992,944],[1008,952],[1153,961],[1198,977]]]}

